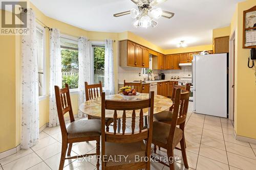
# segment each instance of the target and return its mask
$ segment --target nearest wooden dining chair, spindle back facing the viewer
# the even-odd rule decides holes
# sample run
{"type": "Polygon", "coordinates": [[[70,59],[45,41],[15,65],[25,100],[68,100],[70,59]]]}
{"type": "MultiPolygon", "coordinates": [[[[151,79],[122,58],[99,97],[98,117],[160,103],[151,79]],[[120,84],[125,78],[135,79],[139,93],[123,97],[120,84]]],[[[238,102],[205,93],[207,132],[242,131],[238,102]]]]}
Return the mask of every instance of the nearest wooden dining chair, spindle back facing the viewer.
{"type": "Polygon", "coordinates": [[[105,110],[113,110],[114,132],[105,132],[101,123],[101,168],[104,169],[150,169],[150,155],[153,130],[154,91],[150,92],[149,99],[136,101],[105,100],[105,93],[101,97],[101,122],[105,118],[105,110]],[[148,124],[143,129],[143,110],[148,108],[148,124]],[[122,132],[117,132],[117,117],[122,116],[122,132]],[[126,117],[132,115],[132,132],[125,132],[126,117]],[[135,118],[139,116],[138,127],[135,128],[135,118]],[[145,140],[146,142],[144,143],[145,140]],[[110,160],[115,156],[123,155],[118,161],[110,160]],[[136,156],[141,161],[136,161],[136,156]],[[147,157],[148,159],[143,159],[147,157]],[[108,160],[108,161],[107,161],[108,160]]]}

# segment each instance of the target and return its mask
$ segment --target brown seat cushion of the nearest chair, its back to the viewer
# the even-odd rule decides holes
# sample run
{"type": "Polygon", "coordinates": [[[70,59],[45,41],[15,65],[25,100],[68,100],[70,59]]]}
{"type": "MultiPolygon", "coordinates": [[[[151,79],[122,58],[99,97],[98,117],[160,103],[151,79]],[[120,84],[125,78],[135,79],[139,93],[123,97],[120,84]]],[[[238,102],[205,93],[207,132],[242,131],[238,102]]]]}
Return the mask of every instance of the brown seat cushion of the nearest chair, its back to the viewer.
{"type": "MultiPolygon", "coordinates": [[[[112,143],[105,142],[106,166],[116,166],[122,164],[136,163],[139,158],[146,156],[146,146],[143,141],[133,143],[112,143]],[[120,159],[119,159],[120,156],[120,159]],[[126,161],[125,161],[125,157],[126,161]],[[112,160],[112,159],[113,160],[112,160]],[[116,158],[116,160],[115,160],[116,158]]],[[[142,159],[144,161],[144,159],[142,159]]]]}

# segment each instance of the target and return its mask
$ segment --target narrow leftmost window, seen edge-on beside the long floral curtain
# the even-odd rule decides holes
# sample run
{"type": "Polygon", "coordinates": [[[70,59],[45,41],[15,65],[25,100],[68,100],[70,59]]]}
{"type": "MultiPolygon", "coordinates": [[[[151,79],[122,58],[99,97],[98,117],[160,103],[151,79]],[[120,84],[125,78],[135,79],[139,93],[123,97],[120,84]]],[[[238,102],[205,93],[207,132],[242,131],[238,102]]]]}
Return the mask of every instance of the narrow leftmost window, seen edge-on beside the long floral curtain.
{"type": "Polygon", "coordinates": [[[39,98],[43,98],[46,95],[45,29],[40,25],[36,27],[36,47],[38,62],[38,95],[39,98]]]}

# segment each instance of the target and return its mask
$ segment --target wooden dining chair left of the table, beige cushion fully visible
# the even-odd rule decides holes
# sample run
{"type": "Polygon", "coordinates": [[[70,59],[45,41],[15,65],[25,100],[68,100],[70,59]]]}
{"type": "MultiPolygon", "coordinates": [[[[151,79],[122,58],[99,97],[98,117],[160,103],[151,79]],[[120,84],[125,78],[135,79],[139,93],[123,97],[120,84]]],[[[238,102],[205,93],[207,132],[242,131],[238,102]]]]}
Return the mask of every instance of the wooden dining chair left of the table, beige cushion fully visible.
{"type": "MultiPolygon", "coordinates": [[[[62,148],[61,157],[59,163],[59,170],[63,169],[66,159],[77,159],[86,157],[89,155],[100,155],[100,135],[101,135],[101,121],[97,119],[87,120],[80,119],[75,120],[70,100],[69,85],[65,84],[65,88],[59,89],[58,86],[55,88],[55,98],[57,105],[57,112],[59,118],[59,124],[62,136],[62,148]],[[66,127],[64,115],[69,112],[70,125],[66,127]],[[80,156],[70,156],[72,145],[76,142],[93,141],[96,140],[96,154],[84,154],[80,156]],[[69,148],[68,148],[69,145],[69,148]]],[[[97,160],[97,169],[99,169],[99,160],[97,160]]]]}

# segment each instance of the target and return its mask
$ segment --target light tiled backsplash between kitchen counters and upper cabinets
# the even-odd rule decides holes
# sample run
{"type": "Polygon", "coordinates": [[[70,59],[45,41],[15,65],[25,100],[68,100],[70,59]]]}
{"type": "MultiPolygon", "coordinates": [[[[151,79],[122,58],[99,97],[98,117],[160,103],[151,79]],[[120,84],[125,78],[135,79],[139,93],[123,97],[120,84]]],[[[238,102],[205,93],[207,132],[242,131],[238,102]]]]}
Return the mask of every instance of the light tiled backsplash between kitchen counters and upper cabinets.
{"type": "MultiPolygon", "coordinates": [[[[153,70],[152,79],[158,76],[159,73],[163,72],[165,74],[165,80],[170,80],[170,78],[177,76],[186,76],[192,74],[192,67],[181,67],[180,70],[153,70]]],[[[123,80],[130,82],[134,80],[144,80],[147,75],[143,75],[143,68],[137,67],[120,67],[118,66],[118,82],[123,83],[123,80]],[[139,76],[139,73],[141,76],[139,76]]],[[[151,77],[150,77],[151,78],[151,77]]]]}

